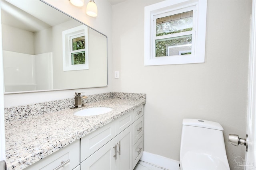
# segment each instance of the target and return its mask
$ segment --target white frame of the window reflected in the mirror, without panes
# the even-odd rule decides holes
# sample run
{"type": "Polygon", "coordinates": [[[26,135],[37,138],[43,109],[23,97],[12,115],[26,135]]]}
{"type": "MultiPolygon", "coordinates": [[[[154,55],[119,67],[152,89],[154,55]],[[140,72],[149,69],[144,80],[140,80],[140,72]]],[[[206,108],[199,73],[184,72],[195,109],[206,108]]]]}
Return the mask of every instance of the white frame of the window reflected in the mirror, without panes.
{"type": "Polygon", "coordinates": [[[89,57],[88,57],[88,27],[86,25],[80,25],[71,29],[62,31],[62,51],[63,51],[63,71],[72,70],[87,70],[89,69],[89,57]],[[84,35],[85,49],[76,50],[85,51],[85,64],[72,65],[72,38],[84,35]]]}

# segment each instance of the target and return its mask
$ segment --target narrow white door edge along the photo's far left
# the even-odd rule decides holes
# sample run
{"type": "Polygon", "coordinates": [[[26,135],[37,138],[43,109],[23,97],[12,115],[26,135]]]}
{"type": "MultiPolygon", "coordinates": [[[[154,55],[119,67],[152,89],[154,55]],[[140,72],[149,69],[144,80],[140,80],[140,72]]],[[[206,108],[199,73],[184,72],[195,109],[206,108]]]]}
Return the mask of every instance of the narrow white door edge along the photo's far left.
{"type": "MultiPolygon", "coordinates": [[[[1,11],[0,11],[1,23],[1,11]]],[[[0,26],[0,170],[5,167],[5,136],[4,136],[4,74],[3,74],[3,51],[2,51],[2,27],[0,26]]]]}

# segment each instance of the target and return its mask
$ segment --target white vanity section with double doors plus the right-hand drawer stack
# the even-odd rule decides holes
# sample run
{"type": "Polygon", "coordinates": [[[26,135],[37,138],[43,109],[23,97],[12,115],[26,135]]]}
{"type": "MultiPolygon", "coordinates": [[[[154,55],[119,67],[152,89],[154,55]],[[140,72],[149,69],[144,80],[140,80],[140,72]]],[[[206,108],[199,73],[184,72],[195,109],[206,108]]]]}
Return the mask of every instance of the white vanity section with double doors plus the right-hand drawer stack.
{"type": "MultiPolygon", "coordinates": [[[[83,137],[80,141],[81,170],[133,170],[143,154],[144,105],[118,118],[109,125],[83,137]],[[110,141],[110,136],[114,138],[110,141]],[[94,147],[90,152],[90,142],[94,138],[94,147]],[[102,145],[104,141],[106,144],[102,145]],[[108,142],[106,142],[108,141],[108,142]],[[101,143],[101,146],[98,145],[101,143]],[[82,148],[87,148],[82,150],[82,148]],[[96,147],[94,148],[96,149],[96,147]],[[82,153],[85,152],[85,153],[82,153]]],[[[91,147],[93,148],[93,147],[91,147]]]]}

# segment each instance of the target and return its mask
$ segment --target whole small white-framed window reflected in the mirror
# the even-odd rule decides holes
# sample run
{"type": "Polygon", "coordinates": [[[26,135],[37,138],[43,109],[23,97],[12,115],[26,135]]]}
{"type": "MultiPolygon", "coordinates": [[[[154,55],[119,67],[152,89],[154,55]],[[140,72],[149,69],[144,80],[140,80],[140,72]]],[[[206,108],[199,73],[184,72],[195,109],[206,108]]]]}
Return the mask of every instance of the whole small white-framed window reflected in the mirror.
{"type": "Polygon", "coordinates": [[[89,69],[88,27],[81,25],[62,32],[63,70],[89,69]]]}

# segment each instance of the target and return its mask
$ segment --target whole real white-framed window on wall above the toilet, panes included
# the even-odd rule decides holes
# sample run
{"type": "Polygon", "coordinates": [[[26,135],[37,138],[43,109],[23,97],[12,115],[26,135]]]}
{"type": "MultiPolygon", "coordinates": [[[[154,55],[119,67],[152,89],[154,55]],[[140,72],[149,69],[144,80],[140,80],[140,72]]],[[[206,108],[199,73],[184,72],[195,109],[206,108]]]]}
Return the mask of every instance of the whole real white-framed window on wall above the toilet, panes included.
{"type": "Polygon", "coordinates": [[[206,0],[146,6],[144,65],[204,63],[206,7],[206,0]]]}

